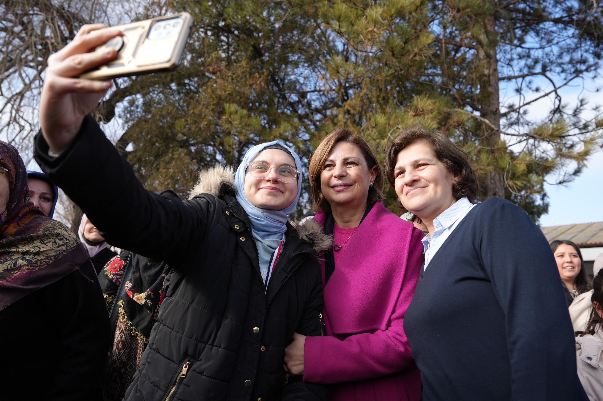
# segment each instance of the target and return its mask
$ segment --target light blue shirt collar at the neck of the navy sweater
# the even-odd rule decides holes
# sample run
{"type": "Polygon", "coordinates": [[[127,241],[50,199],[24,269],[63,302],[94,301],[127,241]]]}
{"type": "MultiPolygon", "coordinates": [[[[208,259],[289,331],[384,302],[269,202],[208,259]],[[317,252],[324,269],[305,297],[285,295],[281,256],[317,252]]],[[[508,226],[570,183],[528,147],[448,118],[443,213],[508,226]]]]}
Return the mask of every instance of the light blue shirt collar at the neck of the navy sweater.
{"type": "Polygon", "coordinates": [[[458,201],[454,202],[451,207],[440,213],[440,216],[434,219],[434,236],[427,234],[421,242],[423,243],[423,253],[425,253],[425,269],[429,261],[434,257],[435,253],[442,246],[446,238],[452,234],[452,231],[458,226],[458,223],[463,220],[467,213],[469,213],[474,204],[469,202],[467,197],[461,197],[458,201]]]}

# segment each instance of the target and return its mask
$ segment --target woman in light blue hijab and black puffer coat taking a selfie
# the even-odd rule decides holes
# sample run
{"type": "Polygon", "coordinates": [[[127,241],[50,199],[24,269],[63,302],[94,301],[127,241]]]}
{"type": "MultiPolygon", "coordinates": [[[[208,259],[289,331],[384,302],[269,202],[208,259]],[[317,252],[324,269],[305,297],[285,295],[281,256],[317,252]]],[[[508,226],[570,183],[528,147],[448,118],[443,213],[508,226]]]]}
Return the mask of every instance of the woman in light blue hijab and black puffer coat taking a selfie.
{"type": "Polygon", "coordinates": [[[87,115],[110,82],[73,78],[115,57],[90,52],[119,34],[101,26],[83,26],[48,60],[36,160],[110,244],[171,267],[125,399],[325,399],[323,386],[283,385],[293,333],[320,335],[315,255],[329,246],[315,223],[287,222],[301,191],[297,154],[279,141],[253,146],[234,177],[202,172],[186,201],[145,190],[87,115]]]}

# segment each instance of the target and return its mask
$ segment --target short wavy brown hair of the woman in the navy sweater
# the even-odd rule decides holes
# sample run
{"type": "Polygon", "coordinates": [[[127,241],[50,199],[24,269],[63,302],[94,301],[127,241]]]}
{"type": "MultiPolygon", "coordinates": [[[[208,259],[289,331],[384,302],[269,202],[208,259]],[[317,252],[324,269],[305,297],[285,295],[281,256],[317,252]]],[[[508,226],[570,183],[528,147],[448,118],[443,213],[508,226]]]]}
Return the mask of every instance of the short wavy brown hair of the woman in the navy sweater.
{"type": "MultiPolygon", "coordinates": [[[[394,187],[394,169],[398,160],[398,154],[406,147],[418,141],[426,141],[435,156],[444,163],[446,169],[458,176],[458,181],[452,185],[452,194],[455,199],[461,197],[469,198],[471,203],[475,203],[478,197],[479,184],[475,172],[469,164],[467,154],[459,149],[446,135],[439,131],[428,131],[422,125],[412,125],[402,129],[385,149],[385,176],[390,185],[394,187]]],[[[398,198],[400,209],[405,213],[408,211],[398,198]]]]}

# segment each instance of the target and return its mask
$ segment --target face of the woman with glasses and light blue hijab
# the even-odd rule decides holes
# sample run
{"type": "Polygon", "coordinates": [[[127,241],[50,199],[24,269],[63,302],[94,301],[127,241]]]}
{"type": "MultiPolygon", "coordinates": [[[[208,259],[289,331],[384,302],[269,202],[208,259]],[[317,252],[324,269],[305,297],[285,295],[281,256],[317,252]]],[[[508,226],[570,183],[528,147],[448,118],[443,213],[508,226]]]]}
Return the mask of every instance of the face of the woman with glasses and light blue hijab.
{"type": "Polygon", "coordinates": [[[259,152],[251,161],[261,161],[270,168],[265,178],[256,178],[245,170],[245,197],[257,208],[268,210],[283,210],[295,201],[297,196],[297,180],[292,182],[282,182],[277,169],[286,166],[289,169],[296,170],[295,160],[285,151],[280,149],[266,149],[259,152]]]}

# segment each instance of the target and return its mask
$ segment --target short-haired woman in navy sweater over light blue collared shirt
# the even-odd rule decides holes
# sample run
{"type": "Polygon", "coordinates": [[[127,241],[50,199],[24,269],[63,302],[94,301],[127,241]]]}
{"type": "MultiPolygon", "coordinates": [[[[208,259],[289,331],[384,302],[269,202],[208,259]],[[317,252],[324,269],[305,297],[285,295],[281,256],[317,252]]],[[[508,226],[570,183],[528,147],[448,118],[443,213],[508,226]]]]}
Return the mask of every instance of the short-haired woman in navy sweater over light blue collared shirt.
{"type": "Polygon", "coordinates": [[[467,156],[440,132],[406,128],[388,145],[400,207],[428,228],[404,329],[423,399],[587,400],[557,265],[516,205],[475,204],[467,156]]]}

